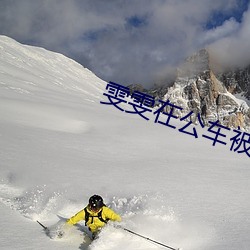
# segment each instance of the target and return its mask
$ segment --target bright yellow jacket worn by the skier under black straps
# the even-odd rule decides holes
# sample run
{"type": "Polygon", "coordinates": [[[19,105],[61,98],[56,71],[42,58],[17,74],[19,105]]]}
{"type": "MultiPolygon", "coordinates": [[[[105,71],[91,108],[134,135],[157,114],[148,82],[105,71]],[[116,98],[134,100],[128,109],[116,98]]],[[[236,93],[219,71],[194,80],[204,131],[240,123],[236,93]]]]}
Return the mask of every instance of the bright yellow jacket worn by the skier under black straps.
{"type": "MultiPolygon", "coordinates": [[[[92,233],[95,233],[96,231],[98,231],[98,229],[102,228],[106,224],[105,222],[101,221],[98,218],[98,214],[100,213],[100,211],[102,211],[101,217],[104,221],[107,221],[107,220],[121,221],[122,220],[118,214],[116,214],[113,210],[111,210],[110,208],[106,206],[103,206],[98,212],[93,212],[88,207],[86,209],[87,209],[87,212],[89,213],[89,219],[85,223],[92,233]]],[[[72,216],[67,221],[67,224],[74,225],[80,220],[85,220],[84,209],[79,211],[74,216],[72,216]]]]}

